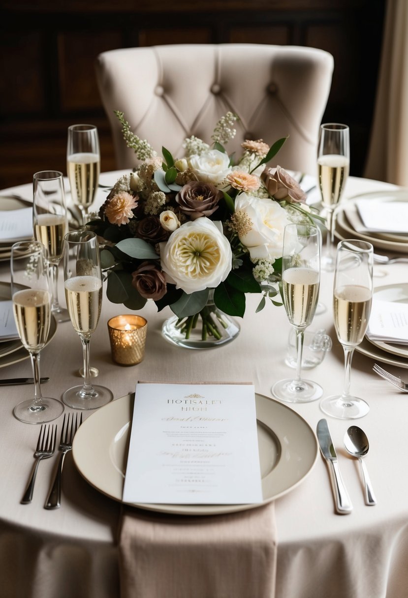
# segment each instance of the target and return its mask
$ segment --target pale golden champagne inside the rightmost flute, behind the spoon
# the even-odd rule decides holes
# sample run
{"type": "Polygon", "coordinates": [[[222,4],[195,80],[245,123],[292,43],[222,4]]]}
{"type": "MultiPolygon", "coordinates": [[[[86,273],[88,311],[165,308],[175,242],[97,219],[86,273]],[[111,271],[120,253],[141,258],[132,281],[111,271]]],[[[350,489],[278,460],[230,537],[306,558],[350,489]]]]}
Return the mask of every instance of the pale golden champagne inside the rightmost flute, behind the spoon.
{"type": "Polygon", "coordinates": [[[333,295],[334,327],[340,343],[357,346],[369,324],[372,292],[366,286],[347,285],[333,295]]]}

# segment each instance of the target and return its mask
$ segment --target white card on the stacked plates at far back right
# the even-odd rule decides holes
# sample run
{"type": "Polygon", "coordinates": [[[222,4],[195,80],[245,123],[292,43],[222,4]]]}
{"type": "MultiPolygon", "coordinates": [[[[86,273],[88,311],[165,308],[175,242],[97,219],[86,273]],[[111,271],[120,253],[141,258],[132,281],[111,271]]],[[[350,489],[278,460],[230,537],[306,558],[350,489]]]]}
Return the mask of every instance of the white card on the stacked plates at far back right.
{"type": "Polygon", "coordinates": [[[361,199],[355,205],[368,231],[408,235],[408,202],[361,199]]]}

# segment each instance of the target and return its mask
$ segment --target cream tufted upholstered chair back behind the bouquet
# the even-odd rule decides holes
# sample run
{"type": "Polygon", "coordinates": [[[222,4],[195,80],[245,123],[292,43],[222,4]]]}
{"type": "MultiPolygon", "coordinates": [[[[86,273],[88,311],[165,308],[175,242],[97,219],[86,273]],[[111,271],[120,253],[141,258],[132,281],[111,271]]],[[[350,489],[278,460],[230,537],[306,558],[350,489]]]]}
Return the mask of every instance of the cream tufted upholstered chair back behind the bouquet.
{"type": "Polygon", "coordinates": [[[239,155],[244,139],[272,144],[289,135],[278,163],[313,174],[332,72],[333,57],[323,50],[258,44],[128,48],[103,52],[96,63],[121,169],[136,160],[114,110],[160,155],[164,145],[175,157],[182,157],[185,137],[211,144],[215,123],[232,111],[240,120],[229,153],[239,155]]]}

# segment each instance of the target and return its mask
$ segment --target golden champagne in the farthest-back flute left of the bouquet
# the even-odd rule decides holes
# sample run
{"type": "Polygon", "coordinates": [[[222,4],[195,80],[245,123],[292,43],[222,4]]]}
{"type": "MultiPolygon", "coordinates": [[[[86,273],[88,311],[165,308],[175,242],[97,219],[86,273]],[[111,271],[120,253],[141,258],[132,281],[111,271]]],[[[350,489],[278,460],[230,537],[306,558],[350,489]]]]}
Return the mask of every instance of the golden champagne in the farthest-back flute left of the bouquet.
{"type": "Polygon", "coordinates": [[[66,160],[72,201],[87,208],[95,199],[98,189],[101,160],[98,154],[81,153],[69,155],[66,160]]]}

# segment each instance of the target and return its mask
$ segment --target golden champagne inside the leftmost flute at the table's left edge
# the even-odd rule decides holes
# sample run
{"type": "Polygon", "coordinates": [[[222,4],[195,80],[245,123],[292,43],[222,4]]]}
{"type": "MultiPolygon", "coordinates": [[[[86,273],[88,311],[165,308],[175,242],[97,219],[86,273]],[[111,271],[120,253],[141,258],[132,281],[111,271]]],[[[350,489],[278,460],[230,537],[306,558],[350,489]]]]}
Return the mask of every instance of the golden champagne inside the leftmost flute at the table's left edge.
{"type": "Polygon", "coordinates": [[[13,295],[13,312],[17,331],[26,349],[42,349],[50,332],[50,293],[42,289],[17,291],[13,295]]]}

